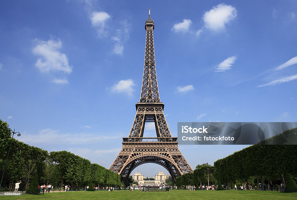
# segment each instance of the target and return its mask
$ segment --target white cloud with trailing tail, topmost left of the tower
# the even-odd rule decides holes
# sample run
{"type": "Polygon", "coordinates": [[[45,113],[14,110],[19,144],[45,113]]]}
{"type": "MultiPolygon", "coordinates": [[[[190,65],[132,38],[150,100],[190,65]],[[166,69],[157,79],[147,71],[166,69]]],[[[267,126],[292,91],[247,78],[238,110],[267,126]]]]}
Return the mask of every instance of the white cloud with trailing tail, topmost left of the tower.
{"type": "Polygon", "coordinates": [[[91,14],[92,25],[97,28],[99,37],[104,37],[107,35],[105,23],[109,18],[110,15],[107,12],[93,12],[91,14]]]}

